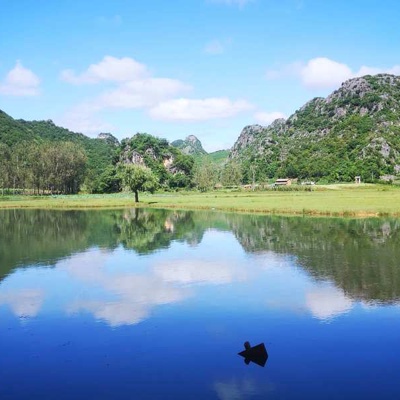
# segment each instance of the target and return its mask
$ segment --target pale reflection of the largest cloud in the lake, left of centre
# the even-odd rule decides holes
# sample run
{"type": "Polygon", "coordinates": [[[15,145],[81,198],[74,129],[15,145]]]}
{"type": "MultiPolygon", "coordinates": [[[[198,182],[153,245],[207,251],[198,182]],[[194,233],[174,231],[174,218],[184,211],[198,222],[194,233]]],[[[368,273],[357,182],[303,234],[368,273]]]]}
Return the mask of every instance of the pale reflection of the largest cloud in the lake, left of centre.
{"type": "Polygon", "coordinates": [[[96,251],[77,255],[57,268],[87,289],[83,296],[67,304],[69,313],[87,311],[111,326],[136,324],[150,315],[152,308],[174,303],[187,291],[173,287],[154,274],[139,274],[121,268],[107,269],[112,253],[96,251]]]}

